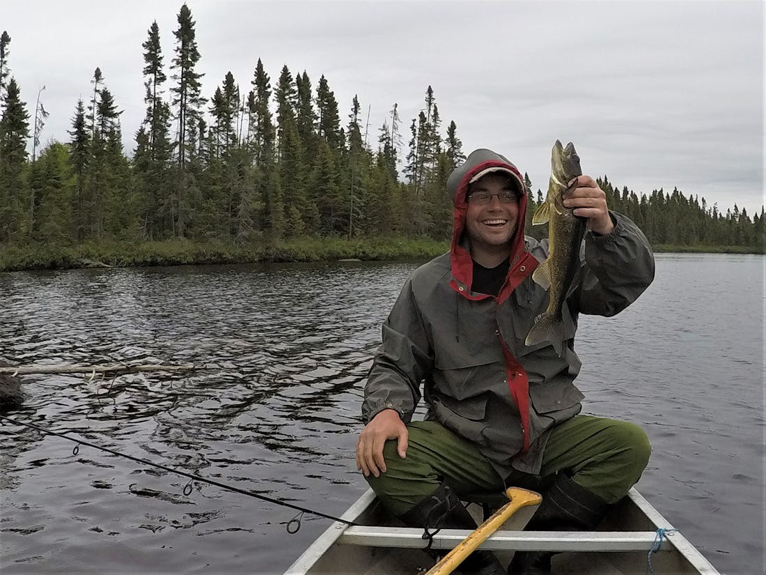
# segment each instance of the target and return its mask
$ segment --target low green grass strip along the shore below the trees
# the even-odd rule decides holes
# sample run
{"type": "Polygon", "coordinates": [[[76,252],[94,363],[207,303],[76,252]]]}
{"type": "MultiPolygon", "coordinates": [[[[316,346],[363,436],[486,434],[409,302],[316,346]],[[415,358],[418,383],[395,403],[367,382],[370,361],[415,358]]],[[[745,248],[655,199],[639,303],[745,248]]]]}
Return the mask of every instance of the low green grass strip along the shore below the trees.
{"type": "MultiPolygon", "coordinates": [[[[722,245],[655,245],[656,252],[763,254],[764,248],[722,245]]],[[[99,265],[248,264],[284,261],[425,260],[443,254],[449,242],[430,238],[296,238],[237,245],[184,240],[141,243],[89,242],[74,246],[8,246],[0,251],[0,271],[72,269],[99,265]]]]}

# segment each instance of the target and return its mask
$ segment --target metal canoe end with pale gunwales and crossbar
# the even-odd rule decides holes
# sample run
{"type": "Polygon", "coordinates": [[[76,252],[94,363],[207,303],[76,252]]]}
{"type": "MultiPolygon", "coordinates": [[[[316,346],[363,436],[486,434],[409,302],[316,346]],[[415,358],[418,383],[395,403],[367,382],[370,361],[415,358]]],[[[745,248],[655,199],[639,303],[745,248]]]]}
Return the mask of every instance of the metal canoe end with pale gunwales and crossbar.
{"type": "MultiPolygon", "coordinates": [[[[636,488],[611,508],[597,531],[522,531],[535,508],[517,511],[480,548],[493,550],[504,564],[514,550],[561,551],[553,559],[556,575],[720,575],[636,488]]],[[[482,508],[469,509],[481,522],[482,508]]],[[[372,490],[340,518],[358,525],[330,525],[284,575],[414,575],[434,564],[422,549],[423,530],[392,519],[372,490]]],[[[469,534],[444,529],[432,548],[447,554],[469,534]]]]}

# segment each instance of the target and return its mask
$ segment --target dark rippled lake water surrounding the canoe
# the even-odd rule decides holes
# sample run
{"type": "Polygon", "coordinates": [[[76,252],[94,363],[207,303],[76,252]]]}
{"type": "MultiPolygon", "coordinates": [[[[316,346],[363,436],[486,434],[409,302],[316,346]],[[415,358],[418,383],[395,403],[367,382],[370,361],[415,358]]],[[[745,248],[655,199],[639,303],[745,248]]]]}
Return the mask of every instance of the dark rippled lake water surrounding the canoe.
{"type": "MultiPolygon", "coordinates": [[[[196,363],[191,374],[28,376],[7,415],[339,515],[381,322],[411,264],[0,274],[11,363],[196,363]]],[[[614,318],[583,317],[584,412],[653,444],[637,485],[719,570],[764,573],[764,265],[658,255],[614,318]]],[[[282,573],[329,521],[0,421],[3,573],[282,573]]],[[[660,575],[660,573],[658,573],[660,575]]]]}

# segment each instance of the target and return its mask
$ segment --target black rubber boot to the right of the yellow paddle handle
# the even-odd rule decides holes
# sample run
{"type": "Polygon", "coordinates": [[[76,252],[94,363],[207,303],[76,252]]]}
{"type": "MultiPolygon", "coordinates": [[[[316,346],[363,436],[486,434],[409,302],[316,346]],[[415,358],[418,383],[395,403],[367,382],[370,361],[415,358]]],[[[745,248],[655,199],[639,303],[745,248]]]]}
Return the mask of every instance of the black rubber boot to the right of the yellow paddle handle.
{"type": "MultiPolygon", "coordinates": [[[[609,505],[563,473],[542,498],[525,531],[588,531],[593,529],[609,505]]],[[[516,551],[508,575],[550,575],[555,551],[516,551]]]]}

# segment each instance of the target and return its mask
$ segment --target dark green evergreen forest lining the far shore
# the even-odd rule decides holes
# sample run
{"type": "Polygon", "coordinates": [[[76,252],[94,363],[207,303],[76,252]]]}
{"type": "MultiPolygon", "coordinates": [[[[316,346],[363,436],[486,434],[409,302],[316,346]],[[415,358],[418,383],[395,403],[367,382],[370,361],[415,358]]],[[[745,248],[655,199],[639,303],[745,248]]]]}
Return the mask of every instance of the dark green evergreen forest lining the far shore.
{"type": "MultiPolygon", "coordinates": [[[[47,112],[11,74],[0,35],[0,270],[106,261],[152,265],[322,258],[400,258],[447,248],[447,176],[465,156],[434,90],[415,118],[391,103],[368,126],[358,97],[339,103],[323,75],[284,65],[270,77],[225,74],[201,93],[201,54],[187,5],[166,61],[156,22],[142,43],[146,116],[123,149],[108,71],[93,72],[73,103],[69,139],[42,147],[47,112]],[[31,143],[31,153],[28,148],[31,143]],[[401,166],[401,169],[400,169],[401,166]],[[414,217],[414,215],[417,215],[414,217]]],[[[543,201],[529,193],[526,232],[543,201]]],[[[633,192],[604,176],[611,209],[632,218],[658,250],[764,253],[766,216],[663,189],[633,192]]],[[[547,187],[547,182],[545,182],[547,187]]]]}

